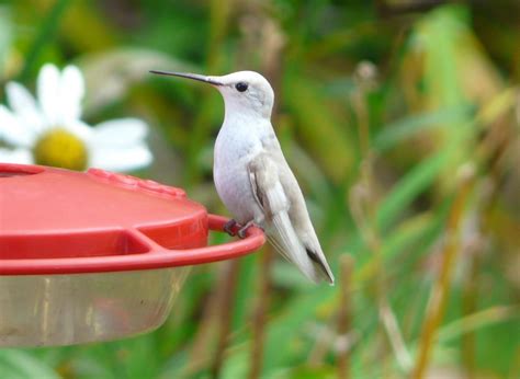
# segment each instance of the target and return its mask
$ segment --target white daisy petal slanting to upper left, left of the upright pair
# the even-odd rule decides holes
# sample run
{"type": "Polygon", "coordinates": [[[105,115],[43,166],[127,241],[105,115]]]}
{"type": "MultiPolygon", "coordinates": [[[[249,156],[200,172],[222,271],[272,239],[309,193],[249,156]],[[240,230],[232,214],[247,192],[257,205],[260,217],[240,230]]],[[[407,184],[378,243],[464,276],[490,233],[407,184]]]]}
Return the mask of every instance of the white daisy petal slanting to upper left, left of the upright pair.
{"type": "Polygon", "coordinates": [[[14,114],[21,118],[23,125],[34,133],[43,129],[43,118],[31,93],[20,83],[9,82],[5,85],[8,103],[14,114]]]}

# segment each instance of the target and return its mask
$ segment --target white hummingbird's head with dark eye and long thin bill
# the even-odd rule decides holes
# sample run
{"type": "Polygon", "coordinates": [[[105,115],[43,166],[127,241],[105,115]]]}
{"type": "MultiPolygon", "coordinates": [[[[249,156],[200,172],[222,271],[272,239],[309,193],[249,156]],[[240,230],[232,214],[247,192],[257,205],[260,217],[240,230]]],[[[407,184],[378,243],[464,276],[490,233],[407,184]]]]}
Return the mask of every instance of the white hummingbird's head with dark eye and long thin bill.
{"type": "Polygon", "coordinates": [[[271,84],[255,71],[238,71],[223,77],[206,77],[199,73],[150,71],[152,73],[199,80],[215,87],[223,95],[226,113],[252,113],[269,118],[274,103],[271,84]]]}

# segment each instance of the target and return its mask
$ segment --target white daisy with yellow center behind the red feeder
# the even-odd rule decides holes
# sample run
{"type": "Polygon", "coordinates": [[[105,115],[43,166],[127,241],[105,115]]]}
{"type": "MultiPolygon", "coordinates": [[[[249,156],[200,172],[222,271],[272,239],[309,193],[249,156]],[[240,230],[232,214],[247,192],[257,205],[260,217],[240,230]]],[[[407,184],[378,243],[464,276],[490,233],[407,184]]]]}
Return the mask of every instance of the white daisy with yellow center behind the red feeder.
{"type": "Polygon", "coordinates": [[[151,163],[142,119],[120,118],[95,127],[81,120],[84,82],[75,66],[60,72],[45,65],[37,79],[37,100],[16,82],[9,82],[5,93],[9,107],[0,104],[0,162],[78,171],[131,171],[151,163]],[[10,148],[2,148],[5,145],[10,148]]]}

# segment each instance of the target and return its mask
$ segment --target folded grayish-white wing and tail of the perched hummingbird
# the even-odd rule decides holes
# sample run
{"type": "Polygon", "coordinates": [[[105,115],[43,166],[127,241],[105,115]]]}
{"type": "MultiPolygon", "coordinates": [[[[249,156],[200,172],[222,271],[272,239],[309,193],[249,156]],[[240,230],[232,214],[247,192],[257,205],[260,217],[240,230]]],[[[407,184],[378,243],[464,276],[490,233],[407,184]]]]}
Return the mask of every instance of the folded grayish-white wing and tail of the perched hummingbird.
{"type": "Polygon", "coordinates": [[[312,280],[319,282],[325,278],[334,283],[334,276],[310,225],[302,192],[283,156],[274,158],[270,153],[260,153],[248,164],[248,173],[255,199],[265,217],[270,242],[312,280]],[[294,180],[294,183],[289,184],[296,186],[292,191],[296,191],[301,198],[295,197],[292,191],[287,192],[284,185],[287,181],[286,170],[291,174],[290,180],[294,180]],[[293,204],[295,199],[303,203],[303,214],[302,204],[293,204]],[[294,220],[295,217],[304,219],[294,220]],[[308,227],[310,231],[305,230],[308,227]]]}

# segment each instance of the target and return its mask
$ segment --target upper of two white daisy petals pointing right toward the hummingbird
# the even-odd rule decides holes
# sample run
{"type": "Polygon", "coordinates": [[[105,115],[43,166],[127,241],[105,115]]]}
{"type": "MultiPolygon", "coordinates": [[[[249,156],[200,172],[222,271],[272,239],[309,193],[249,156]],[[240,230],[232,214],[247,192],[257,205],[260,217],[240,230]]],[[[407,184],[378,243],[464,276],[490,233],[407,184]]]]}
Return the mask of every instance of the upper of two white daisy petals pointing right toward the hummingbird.
{"type": "Polygon", "coordinates": [[[93,143],[113,147],[131,147],[140,143],[148,133],[146,123],[138,118],[120,118],[104,122],[92,130],[93,143]]]}

